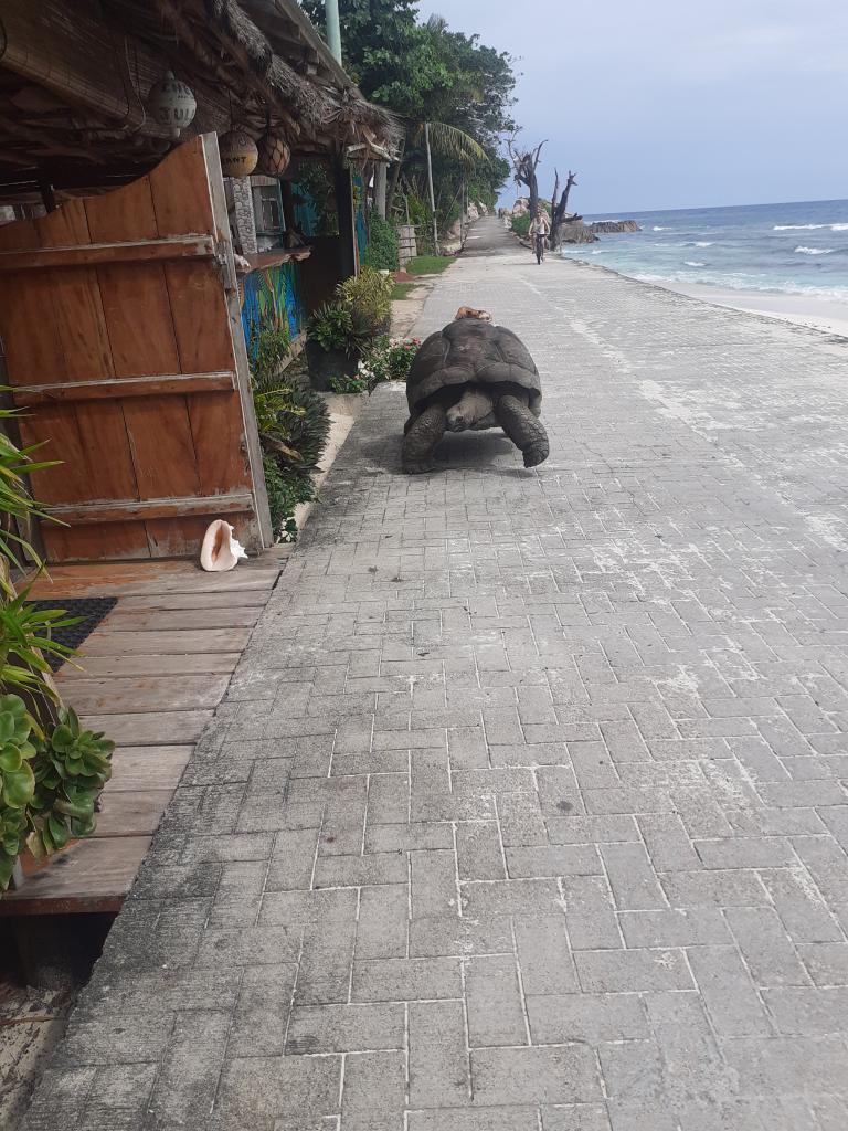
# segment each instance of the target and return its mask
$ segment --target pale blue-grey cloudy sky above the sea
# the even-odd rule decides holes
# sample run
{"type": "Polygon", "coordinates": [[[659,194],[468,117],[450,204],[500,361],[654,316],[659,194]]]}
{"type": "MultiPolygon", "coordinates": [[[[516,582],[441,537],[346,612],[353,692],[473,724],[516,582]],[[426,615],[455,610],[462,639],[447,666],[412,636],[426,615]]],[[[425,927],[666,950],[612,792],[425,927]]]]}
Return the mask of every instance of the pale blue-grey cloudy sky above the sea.
{"type": "Polygon", "coordinates": [[[517,57],[519,139],[548,139],[539,191],[574,170],[586,215],[848,197],[845,0],[422,0],[434,12],[517,57]]]}

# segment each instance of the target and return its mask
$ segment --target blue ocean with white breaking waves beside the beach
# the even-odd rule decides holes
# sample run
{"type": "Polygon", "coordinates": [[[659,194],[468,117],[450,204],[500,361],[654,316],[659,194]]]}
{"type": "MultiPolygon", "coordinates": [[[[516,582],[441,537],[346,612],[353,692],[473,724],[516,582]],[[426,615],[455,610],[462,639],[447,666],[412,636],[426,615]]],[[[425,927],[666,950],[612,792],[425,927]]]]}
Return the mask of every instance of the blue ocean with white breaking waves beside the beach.
{"type": "Polygon", "coordinates": [[[650,283],[794,294],[848,302],[848,200],[589,215],[634,219],[562,254],[650,283]]]}

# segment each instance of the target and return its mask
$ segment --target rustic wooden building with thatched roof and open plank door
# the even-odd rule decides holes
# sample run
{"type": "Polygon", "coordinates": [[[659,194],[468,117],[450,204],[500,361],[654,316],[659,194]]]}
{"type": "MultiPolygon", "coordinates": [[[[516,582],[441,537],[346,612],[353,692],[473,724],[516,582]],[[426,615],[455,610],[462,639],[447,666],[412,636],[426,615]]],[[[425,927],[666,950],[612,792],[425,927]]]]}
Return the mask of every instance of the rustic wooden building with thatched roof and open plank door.
{"type": "Polygon", "coordinates": [[[34,476],[68,523],[50,561],[192,555],[222,516],[268,544],[243,328],[296,333],[356,270],[352,178],[396,140],[294,0],[5,0],[3,381],[62,461],[34,476]],[[168,74],[197,104],[179,136],[168,74]],[[239,136],[258,175],[227,184],[239,136]],[[308,231],[317,183],[335,215],[308,231]]]}

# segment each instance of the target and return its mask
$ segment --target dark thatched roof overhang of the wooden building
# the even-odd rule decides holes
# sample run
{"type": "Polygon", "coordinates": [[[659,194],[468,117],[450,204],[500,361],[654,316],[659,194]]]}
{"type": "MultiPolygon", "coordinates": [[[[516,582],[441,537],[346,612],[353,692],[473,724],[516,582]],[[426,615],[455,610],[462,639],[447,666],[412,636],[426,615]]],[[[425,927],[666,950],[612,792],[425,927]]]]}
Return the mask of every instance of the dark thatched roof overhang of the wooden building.
{"type": "Polygon", "coordinates": [[[44,182],[109,187],[161,159],[173,143],[145,100],[167,69],[197,97],[188,133],[237,126],[300,155],[365,156],[400,136],[295,0],[3,0],[0,199],[44,182]]]}

